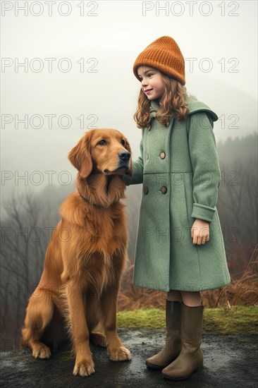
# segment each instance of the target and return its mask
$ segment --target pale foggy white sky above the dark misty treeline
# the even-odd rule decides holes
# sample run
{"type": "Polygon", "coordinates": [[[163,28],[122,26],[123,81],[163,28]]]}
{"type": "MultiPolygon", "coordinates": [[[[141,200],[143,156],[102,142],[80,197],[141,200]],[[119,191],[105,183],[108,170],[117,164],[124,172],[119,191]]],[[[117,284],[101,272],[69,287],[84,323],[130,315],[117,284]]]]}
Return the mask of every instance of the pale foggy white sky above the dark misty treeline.
{"type": "Polygon", "coordinates": [[[1,1],[2,195],[42,190],[45,171],[74,178],[67,154],[94,126],[123,132],[136,158],[133,63],[163,35],[188,92],[221,118],[216,141],[257,131],[257,1],[1,1]]]}

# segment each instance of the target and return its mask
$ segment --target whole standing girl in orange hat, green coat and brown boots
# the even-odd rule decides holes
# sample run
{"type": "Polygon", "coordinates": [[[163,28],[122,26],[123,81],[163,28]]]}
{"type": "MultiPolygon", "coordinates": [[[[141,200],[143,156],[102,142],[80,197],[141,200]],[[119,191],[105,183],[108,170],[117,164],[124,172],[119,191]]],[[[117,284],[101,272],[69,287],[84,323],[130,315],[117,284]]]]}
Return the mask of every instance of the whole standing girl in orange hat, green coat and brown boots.
{"type": "Polygon", "coordinates": [[[143,183],[133,282],[167,292],[166,343],[146,363],[183,380],[203,365],[199,291],[231,281],[216,210],[218,116],[188,96],[185,61],[171,37],[149,44],[133,72],[141,83],[134,118],[142,140],[126,184],[143,183]]]}

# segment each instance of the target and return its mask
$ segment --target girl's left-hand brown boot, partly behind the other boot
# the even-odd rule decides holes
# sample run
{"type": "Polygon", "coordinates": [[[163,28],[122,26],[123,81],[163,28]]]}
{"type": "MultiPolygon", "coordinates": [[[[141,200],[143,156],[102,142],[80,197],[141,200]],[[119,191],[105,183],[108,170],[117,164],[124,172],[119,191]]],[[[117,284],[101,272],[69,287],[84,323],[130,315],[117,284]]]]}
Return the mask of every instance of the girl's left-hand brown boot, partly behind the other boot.
{"type": "Polygon", "coordinates": [[[181,302],[166,301],[166,343],[162,350],[146,360],[148,368],[163,369],[178,357],[181,350],[181,302]]]}

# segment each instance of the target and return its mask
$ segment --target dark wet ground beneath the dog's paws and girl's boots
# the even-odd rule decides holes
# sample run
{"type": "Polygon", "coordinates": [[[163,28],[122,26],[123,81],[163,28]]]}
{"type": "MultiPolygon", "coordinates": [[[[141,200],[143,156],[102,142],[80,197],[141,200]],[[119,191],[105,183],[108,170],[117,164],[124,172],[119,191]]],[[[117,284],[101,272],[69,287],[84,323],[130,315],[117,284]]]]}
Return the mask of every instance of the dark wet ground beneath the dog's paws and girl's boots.
{"type": "Polygon", "coordinates": [[[95,373],[90,377],[73,376],[70,350],[59,350],[49,360],[35,360],[29,351],[1,353],[1,388],[4,387],[238,387],[254,388],[257,380],[257,337],[202,335],[204,368],[188,380],[173,382],[161,372],[148,370],[145,359],[162,347],[164,329],[118,329],[132,360],[116,363],[106,349],[91,345],[95,373]]]}

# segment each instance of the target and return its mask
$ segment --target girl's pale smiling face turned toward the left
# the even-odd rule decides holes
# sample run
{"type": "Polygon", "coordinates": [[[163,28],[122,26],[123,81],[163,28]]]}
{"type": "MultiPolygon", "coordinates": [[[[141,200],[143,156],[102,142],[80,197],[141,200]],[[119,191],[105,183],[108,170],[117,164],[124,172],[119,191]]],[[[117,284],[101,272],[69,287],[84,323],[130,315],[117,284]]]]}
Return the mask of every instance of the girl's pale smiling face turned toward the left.
{"type": "Polygon", "coordinates": [[[139,66],[137,73],[142,84],[142,91],[147,95],[148,99],[157,99],[164,95],[165,85],[159,70],[149,66],[139,66]]]}

